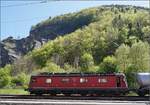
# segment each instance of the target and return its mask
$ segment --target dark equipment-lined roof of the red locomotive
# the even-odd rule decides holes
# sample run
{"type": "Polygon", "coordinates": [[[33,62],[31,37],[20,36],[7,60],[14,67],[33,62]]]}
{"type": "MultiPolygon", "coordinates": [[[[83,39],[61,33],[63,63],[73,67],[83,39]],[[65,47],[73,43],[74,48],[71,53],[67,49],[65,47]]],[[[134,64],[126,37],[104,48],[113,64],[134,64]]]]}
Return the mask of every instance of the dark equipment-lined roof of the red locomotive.
{"type": "Polygon", "coordinates": [[[116,76],[123,73],[49,73],[43,72],[33,76],[116,76]]]}

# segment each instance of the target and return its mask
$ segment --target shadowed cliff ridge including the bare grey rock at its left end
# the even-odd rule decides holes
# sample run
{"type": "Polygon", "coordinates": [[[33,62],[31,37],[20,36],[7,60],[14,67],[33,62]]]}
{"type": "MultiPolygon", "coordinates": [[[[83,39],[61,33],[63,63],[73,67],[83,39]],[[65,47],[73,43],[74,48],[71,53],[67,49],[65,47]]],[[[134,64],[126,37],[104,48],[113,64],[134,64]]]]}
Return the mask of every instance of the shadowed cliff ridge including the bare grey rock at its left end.
{"type": "Polygon", "coordinates": [[[41,47],[44,43],[55,39],[59,35],[71,33],[78,28],[88,25],[93,21],[93,15],[86,12],[84,15],[81,15],[78,12],[57,16],[53,19],[49,18],[32,26],[30,34],[26,38],[17,40],[13,37],[8,37],[2,40],[0,42],[0,67],[13,63],[29,51],[41,47]]]}

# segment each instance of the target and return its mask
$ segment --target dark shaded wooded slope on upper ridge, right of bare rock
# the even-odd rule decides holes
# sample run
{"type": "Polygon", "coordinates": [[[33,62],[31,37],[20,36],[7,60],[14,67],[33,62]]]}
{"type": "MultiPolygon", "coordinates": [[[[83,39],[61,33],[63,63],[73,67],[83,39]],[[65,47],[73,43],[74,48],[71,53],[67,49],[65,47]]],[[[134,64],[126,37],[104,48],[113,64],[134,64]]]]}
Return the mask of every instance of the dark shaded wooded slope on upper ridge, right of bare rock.
{"type": "Polygon", "coordinates": [[[75,31],[78,28],[95,21],[97,9],[85,9],[78,13],[69,13],[54,18],[49,18],[31,27],[31,32],[36,36],[63,35],[75,31]],[[47,28],[45,28],[47,27],[47,28]]]}

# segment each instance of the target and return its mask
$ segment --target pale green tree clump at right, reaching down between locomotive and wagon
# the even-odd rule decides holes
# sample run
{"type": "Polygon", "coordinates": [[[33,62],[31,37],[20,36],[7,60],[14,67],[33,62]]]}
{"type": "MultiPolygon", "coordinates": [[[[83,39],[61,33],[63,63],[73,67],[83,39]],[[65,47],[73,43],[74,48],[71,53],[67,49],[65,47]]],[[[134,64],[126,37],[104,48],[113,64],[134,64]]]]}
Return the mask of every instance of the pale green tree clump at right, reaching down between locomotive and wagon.
{"type": "Polygon", "coordinates": [[[135,42],[131,47],[122,44],[116,50],[117,66],[120,72],[127,76],[129,87],[137,87],[135,76],[137,72],[149,72],[150,45],[146,42],[135,42]]]}

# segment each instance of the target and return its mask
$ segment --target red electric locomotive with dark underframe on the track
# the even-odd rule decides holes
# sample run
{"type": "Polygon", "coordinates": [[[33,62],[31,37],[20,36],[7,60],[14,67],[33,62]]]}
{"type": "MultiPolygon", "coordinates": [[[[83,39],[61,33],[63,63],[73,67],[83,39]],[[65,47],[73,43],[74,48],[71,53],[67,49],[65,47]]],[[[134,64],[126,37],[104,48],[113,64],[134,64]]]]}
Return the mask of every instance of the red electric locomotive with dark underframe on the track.
{"type": "Polygon", "coordinates": [[[124,74],[42,73],[31,76],[30,94],[120,95],[128,92],[124,74]]]}

